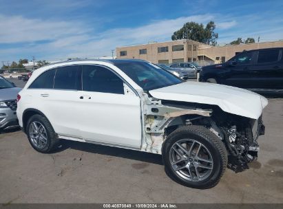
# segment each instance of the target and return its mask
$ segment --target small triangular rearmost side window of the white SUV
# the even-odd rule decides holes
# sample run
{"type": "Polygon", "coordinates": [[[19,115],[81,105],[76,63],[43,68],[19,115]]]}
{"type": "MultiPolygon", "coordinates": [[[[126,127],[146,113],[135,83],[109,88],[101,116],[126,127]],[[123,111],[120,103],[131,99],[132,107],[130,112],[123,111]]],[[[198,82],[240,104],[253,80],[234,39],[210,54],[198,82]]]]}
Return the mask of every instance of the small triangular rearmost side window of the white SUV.
{"type": "Polygon", "coordinates": [[[34,80],[30,89],[53,89],[55,69],[50,69],[43,72],[39,77],[34,80]]]}

